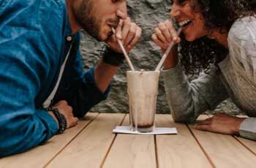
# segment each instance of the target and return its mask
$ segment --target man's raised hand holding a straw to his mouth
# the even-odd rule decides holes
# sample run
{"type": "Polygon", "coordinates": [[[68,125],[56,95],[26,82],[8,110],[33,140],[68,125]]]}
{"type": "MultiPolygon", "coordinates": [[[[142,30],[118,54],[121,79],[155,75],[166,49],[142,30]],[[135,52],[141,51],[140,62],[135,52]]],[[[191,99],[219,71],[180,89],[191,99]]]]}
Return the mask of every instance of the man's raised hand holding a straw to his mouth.
{"type": "Polygon", "coordinates": [[[123,42],[127,52],[129,52],[138,42],[140,36],[141,28],[137,26],[135,23],[132,23],[131,19],[127,17],[125,20],[121,19],[119,21],[118,26],[116,28],[116,34],[113,34],[109,39],[107,39],[106,43],[112,50],[121,53],[121,48],[119,47],[118,42],[116,40],[119,39],[123,42]]]}

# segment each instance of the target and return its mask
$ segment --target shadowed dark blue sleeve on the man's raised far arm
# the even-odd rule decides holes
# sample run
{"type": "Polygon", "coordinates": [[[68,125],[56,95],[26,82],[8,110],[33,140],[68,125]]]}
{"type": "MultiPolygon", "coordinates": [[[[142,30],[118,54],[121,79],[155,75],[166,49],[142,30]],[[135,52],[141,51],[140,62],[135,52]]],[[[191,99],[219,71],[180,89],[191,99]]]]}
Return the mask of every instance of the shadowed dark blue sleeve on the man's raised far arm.
{"type": "Polygon", "coordinates": [[[94,81],[94,67],[83,72],[79,43],[80,33],[75,34],[75,42],[53,102],[66,100],[73,108],[75,117],[82,118],[91,107],[107,99],[110,86],[102,93],[94,81]]]}

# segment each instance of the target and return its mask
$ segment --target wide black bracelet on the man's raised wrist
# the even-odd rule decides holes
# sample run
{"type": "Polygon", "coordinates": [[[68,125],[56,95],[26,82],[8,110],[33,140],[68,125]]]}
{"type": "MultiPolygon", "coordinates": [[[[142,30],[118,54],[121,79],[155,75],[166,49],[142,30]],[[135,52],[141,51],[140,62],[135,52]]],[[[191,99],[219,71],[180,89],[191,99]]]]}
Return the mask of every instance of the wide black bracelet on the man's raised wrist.
{"type": "Polygon", "coordinates": [[[121,64],[124,63],[124,54],[113,51],[108,46],[105,46],[102,53],[102,58],[106,64],[113,66],[121,66],[121,64]]]}

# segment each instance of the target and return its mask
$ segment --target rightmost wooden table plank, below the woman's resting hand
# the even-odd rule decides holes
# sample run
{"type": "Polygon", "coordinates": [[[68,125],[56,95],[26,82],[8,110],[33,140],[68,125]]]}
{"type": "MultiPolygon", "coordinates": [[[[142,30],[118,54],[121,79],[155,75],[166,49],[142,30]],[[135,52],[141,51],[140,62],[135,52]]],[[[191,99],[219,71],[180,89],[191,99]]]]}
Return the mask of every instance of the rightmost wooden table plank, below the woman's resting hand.
{"type": "MultiPolygon", "coordinates": [[[[200,120],[208,118],[200,116],[200,120]]],[[[256,157],[241,145],[234,137],[225,134],[216,134],[209,131],[200,131],[189,125],[200,145],[208,153],[215,167],[255,167],[256,157]]]]}

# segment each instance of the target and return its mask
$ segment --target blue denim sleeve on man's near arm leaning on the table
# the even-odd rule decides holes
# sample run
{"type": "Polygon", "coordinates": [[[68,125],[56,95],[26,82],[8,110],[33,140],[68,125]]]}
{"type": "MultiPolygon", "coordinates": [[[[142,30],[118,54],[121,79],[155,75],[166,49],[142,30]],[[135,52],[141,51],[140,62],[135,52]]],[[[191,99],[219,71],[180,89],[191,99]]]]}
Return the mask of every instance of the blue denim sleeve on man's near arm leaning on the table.
{"type": "Polygon", "coordinates": [[[5,2],[0,8],[0,156],[42,144],[58,129],[47,111],[35,108],[34,99],[49,73],[45,68],[50,65],[48,54],[56,56],[55,48],[59,48],[51,39],[47,41],[50,34],[44,34],[39,19],[50,23],[50,18],[58,17],[59,8],[53,1],[5,2]],[[45,3],[53,11],[41,15],[48,6],[45,3]]]}

